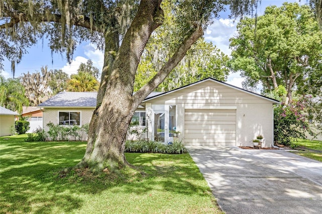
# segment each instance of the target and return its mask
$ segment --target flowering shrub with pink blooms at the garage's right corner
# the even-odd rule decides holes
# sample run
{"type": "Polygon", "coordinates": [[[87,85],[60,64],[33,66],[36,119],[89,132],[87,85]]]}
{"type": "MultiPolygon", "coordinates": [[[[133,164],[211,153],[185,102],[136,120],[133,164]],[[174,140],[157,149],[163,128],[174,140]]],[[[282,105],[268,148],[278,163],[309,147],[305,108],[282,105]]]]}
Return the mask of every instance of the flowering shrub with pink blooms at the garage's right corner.
{"type": "Polygon", "coordinates": [[[274,143],[290,145],[294,138],[305,138],[304,133],[311,132],[304,114],[308,97],[288,105],[281,104],[274,109],[274,143]]]}

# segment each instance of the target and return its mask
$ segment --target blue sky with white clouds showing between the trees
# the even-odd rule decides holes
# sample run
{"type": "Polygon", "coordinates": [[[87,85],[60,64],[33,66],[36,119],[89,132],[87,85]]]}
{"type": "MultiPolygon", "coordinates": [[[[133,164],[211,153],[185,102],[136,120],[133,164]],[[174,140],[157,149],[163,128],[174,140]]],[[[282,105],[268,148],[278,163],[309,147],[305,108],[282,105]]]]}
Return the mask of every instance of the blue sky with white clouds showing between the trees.
{"type": "MultiPolygon", "coordinates": [[[[267,6],[276,5],[280,7],[283,2],[299,2],[298,0],[290,1],[268,1],[262,0],[261,5],[257,9],[258,15],[262,15],[267,6]]],[[[306,1],[300,2],[304,4],[306,1]]],[[[236,32],[237,20],[231,20],[228,18],[228,13],[221,13],[221,16],[214,20],[214,23],[208,27],[205,31],[205,40],[212,42],[217,46],[222,52],[230,55],[231,50],[229,50],[229,38],[232,37],[236,32]]],[[[28,54],[25,54],[19,64],[16,65],[15,77],[20,76],[22,73],[27,73],[28,71],[33,73],[35,71],[40,71],[42,66],[48,66],[48,69],[62,69],[64,72],[70,74],[76,73],[76,70],[82,62],[85,63],[88,59],[93,61],[94,66],[102,70],[103,66],[103,53],[96,50],[95,45],[87,43],[82,43],[78,45],[76,51],[73,55],[73,60],[71,64],[68,64],[64,54],[53,54],[51,57],[50,49],[47,47],[47,43],[41,40],[28,50],[28,54]],[[42,45],[43,44],[43,45],[42,45]],[[52,63],[53,61],[53,63],[52,63]]],[[[4,70],[1,72],[6,78],[12,77],[11,73],[11,63],[7,60],[4,62],[4,70]]],[[[240,77],[239,73],[232,73],[228,77],[228,83],[235,86],[241,87],[241,81],[243,78],[240,77]]]]}

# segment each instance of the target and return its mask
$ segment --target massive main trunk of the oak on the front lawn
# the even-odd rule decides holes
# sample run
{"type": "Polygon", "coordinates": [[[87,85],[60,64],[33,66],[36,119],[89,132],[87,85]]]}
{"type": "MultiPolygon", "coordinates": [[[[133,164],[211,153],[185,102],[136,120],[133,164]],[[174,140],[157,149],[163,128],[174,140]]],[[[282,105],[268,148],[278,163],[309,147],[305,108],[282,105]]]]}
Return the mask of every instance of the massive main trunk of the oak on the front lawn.
{"type": "Polygon", "coordinates": [[[115,60],[111,58],[113,53],[105,53],[103,81],[98,106],[90,123],[88,146],[76,168],[90,167],[92,171],[101,171],[109,167],[113,171],[127,164],[124,156],[126,133],[137,108],[132,98],[135,73],[151,33],[162,24],[160,3],[141,1],[115,60]]]}

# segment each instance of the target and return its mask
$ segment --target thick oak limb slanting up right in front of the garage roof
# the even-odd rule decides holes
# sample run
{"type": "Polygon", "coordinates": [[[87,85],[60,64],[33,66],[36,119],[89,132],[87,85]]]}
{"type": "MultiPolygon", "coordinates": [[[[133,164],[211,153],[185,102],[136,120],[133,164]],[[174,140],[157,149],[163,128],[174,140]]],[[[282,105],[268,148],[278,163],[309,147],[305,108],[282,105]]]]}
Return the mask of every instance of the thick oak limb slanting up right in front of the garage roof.
{"type": "Polygon", "coordinates": [[[143,85],[134,95],[134,106],[138,105],[143,99],[150,94],[160,83],[162,83],[169,73],[177,66],[177,64],[186,55],[191,45],[194,44],[203,35],[203,28],[198,25],[189,37],[184,40],[178,47],[175,54],[169,59],[168,62],[159,70],[157,74],[145,85],[143,85]]]}

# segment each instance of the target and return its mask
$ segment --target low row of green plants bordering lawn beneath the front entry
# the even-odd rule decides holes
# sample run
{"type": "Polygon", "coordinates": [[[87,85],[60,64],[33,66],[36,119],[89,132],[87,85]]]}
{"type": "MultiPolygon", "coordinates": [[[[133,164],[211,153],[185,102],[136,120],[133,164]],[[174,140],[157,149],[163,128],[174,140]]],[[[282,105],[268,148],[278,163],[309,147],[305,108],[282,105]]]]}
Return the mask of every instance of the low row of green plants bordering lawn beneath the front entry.
{"type": "Polygon", "coordinates": [[[182,154],[186,153],[187,149],[181,141],[174,141],[173,144],[164,144],[156,141],[126,141],[125,152],[144,152],[144,153],[168,153],[182,154]]]}

